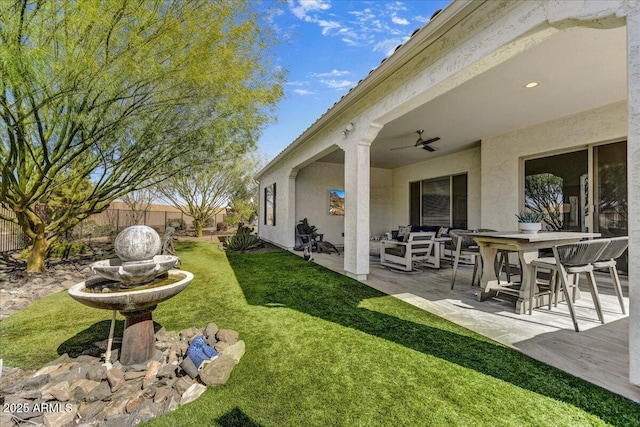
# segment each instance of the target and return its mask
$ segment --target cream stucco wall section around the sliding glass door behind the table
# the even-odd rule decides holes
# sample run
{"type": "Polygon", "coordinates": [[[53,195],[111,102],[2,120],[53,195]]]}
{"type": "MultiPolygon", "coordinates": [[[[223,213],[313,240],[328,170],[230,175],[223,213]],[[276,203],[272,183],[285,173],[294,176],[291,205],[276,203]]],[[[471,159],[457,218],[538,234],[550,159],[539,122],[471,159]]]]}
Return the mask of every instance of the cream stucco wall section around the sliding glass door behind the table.
{"type": "Polygon", "coordinates": [[[481,226],[516,230],[523,157],[619,141],[627,135],[627,104],[619,102],[482,140],[481,226]]]}

